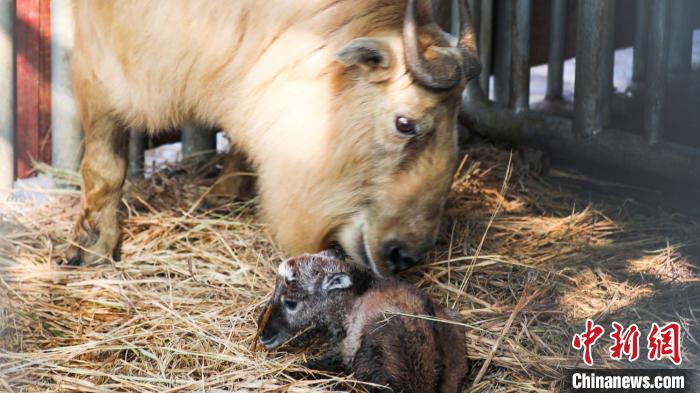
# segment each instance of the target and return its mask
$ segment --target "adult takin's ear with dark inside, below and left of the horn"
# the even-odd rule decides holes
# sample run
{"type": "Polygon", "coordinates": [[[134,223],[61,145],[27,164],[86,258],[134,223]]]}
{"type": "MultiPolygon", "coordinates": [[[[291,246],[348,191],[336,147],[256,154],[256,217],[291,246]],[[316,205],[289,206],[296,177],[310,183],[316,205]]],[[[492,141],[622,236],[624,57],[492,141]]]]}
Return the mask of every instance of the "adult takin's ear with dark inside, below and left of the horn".
{"type": "Polygon", "coordinates": [[[335,58],[346,66],[359,66],[371,82],[389,79],[394,56],[389,44],[381,38],[355,38],[335,53],[335,58]]]}

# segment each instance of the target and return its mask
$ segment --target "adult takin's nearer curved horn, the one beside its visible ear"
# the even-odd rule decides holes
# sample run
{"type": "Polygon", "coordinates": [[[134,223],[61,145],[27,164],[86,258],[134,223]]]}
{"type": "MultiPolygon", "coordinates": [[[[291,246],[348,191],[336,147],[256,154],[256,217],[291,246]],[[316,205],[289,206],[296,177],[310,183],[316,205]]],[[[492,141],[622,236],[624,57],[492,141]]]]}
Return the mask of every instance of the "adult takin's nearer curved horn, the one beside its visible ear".
{"type": "Polygon", "coordinates": [[[423,55],[418,41],[416,0],[408,0],[406,7],[403,20],[403,46],[406,67],[422,86],[433,90],[448,90],[461,80],[462,70],[456,59],[440,56],[438,59],[428,61],[423,55]]]}

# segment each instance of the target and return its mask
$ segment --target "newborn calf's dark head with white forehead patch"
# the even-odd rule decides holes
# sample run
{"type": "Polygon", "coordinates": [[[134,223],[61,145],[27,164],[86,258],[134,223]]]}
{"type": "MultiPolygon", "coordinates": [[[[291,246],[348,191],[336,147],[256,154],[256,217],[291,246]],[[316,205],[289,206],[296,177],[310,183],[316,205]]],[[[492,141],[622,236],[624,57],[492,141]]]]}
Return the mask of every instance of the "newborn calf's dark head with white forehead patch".
{"type": "Polygon", "coordinates": [[[277,270],[275,291],[258,321],[259,342],[271,349],[309,327],[340,323],[343,306],[358,288],[371,281],[363,272],[328,252],[304,254],[282,262],[277,270]]]}

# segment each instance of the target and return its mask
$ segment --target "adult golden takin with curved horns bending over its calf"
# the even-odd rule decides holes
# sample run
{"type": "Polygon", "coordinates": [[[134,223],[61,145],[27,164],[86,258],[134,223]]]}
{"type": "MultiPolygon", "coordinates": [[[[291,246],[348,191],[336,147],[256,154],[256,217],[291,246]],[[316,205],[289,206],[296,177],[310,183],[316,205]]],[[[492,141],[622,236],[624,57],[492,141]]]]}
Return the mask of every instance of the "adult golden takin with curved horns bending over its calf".
{"type": "Polygon", "coordinates": [[[77,0],[86,143],[69,262],[117,248],[127,129],[199,122],[233,146],[212,194],[235,196],[227,174],[250,165],[286,252],[336,244],[380,275],[410,267],[434,243],[480,69],[459,8],[453,38],[420,0],[77,0]]]}

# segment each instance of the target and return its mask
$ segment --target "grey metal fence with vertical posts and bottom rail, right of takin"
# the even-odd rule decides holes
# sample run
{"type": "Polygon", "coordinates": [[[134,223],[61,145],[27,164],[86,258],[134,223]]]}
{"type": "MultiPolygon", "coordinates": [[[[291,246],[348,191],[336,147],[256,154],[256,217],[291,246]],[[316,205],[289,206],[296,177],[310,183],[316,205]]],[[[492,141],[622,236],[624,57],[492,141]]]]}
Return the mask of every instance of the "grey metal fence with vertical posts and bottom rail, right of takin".
{"type": "Polygon", "coordinates": [[[693,121],[700,120],[693,102],[700,78],[691,64],[695,3],[636,2],[632,84],[616,93],[614,0],[551,0],[549,10],[533,10],[532,0],[470,1],[484,72],[467,87],[462,122],[479,134],[532,145],[598,171],[700,185],[700,144],[693,142],[700,136],[700,121],[693,121]],[[572,9],[577,25],[573,103],[562,99],[566,19],[572,9]],[[533,11],[549,13],[550,29],[546,98],[530,105],[533,11]]]}

